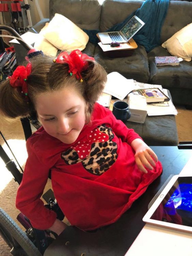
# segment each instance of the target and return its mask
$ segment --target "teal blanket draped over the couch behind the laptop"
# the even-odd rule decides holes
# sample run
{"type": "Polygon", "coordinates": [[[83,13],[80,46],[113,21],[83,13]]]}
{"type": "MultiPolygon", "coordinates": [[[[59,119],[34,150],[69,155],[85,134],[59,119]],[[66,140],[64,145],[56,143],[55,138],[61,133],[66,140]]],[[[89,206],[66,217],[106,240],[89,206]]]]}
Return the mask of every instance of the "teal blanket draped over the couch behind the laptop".
{"type": "MultiPolygon", "coordinates": [[[[130,14],[123,22],[116,24],[105,32],[119,31],[134,15],[139,17],[145,25],[133,37],[137,44],[143,45],[147,52],[161,44],[161,28],[163,26],[169,0],[146,0],[141,8],[130,14]]],[[[89,41],[95,45],[99,42],[96,34],[99,30],[83,29],[89,36],[89,41]]]]}

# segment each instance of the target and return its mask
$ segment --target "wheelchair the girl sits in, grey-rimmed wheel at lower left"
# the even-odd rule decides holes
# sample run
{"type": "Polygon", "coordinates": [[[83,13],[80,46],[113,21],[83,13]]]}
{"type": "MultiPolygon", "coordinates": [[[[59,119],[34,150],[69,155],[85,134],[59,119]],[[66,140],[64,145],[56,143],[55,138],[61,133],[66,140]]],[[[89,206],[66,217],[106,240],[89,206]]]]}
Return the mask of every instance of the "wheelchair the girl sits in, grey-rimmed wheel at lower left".
{"type": "MultiPolygon", "coordinates": [[[[18,40],[20,40],[20,43],[25,47],[27,51],[32,49],[32,47],[26,44],[20,35],[11,27],[0,25],[0,30],[6,30],[13,34],[18,40]]],[[[29,57],[33,57],[38,54],[43,53],[35,52],[29,57]]],[[[27,140],[32,134],[31,125],[36,129],[41,126],[36,118],[35,113],[31,113],[29,118],[21,118],[20,121],[24,130],[25,140],[27,140]]],[[[1,131],[0,135],[8,145],[1,131]]],[[[9,149],[11,151],[10,147],[9,149]]],[[[4,161],[6,168],[12,173],[14,180],[20,184],[23,177],[23,170],[21,169],[21,172],[19,171],[15,162],[8,157],[1,145],[0,157],[4,161]]],[[[57,217],[62,220],[64,215],[58,207],[58,204],[55,202],[53,191],[48,190],[47,195],[44,195],[44,199],[47,202],[45,206],[50,210],[54,210],[57,213],[57,217]]],[[[29,219],[27,219],[26,216],[24,216],[22,213],[19,213],[17,220],[26,229],[25,232],[19,228],[16,222],[3,209],[0,208],[0,235],[10,247],[10,253],[15,256],[43,255],[46,248],[52,241],[55,240],[57,234],[49,230],[38,230],[33,228],[29,219]]]]}

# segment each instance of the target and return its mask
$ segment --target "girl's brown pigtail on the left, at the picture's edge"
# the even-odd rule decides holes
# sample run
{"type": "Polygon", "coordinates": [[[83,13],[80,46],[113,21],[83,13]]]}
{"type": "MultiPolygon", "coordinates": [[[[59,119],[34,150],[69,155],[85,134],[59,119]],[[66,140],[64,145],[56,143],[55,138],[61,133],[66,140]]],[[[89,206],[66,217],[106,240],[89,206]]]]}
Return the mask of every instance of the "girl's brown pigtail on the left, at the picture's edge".
{"type": "Polygon", "coordinates": [[[25,117],[30,113],[30,103],[20,88],[13,88],[10,79],[0,84],[0,113],[6,117],[25,117]]]}

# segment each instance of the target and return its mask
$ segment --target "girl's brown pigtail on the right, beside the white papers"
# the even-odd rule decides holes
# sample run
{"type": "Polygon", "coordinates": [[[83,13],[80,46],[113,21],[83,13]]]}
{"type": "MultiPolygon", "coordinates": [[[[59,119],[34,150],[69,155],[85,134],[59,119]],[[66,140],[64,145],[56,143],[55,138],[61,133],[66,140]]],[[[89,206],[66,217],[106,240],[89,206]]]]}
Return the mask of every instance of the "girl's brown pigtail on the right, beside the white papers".
{"type": "Polygon", "coordinates": [[[105,69],[95,61],[88,61],[87,70],[83,73],[84,80],[84,98],[88,103],[89,111],[92,112],[94,103],[99,99],[104,85],[107,81],[107,73],[105,69]]]}

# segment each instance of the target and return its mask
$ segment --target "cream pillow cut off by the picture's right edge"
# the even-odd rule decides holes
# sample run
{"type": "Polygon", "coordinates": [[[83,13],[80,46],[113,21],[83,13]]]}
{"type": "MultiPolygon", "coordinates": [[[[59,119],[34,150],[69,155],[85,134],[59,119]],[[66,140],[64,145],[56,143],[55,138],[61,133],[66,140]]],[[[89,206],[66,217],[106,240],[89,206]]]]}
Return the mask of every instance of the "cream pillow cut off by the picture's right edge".
{"type": "Polygon", "coordinates": [[[192,57],[192,23],[179,30],[162,44],[174,56],[191,61],[192,57]]]}

